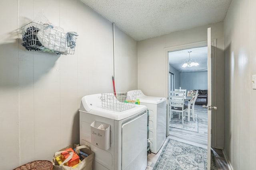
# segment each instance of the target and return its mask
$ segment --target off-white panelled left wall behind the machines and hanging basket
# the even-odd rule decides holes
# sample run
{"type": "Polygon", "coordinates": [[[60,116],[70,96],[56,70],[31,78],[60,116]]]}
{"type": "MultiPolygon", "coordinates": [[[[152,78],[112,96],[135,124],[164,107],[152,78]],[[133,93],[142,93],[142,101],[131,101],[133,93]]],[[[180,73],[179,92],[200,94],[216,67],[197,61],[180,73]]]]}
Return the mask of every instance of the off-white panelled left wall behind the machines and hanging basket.
{"type": "MultiPolygon", "coordinates": [[[[79,0],[0,1],[0,14],[0,164],[10,170],[79,143],[81,98],[113,90],[113,27],[79,0]],[[42,10],[53,25],[79,34],[74,55],[22,47],[21,26],[42,10]]],[[[136,89],[137,42],[115,30],[116,86],[136,89]]]]}

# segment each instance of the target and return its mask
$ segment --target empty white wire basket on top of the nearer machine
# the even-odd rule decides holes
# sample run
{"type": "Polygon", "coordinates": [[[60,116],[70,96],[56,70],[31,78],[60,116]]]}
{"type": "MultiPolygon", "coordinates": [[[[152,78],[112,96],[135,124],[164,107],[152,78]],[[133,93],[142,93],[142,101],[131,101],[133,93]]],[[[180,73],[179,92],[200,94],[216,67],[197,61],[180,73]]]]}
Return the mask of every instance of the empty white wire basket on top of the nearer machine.
{"type": "Polygon", "coordinates": [[[113,111],[124,111],[135,107],[136,94],[102,93],[102,107],[113,111]]]}

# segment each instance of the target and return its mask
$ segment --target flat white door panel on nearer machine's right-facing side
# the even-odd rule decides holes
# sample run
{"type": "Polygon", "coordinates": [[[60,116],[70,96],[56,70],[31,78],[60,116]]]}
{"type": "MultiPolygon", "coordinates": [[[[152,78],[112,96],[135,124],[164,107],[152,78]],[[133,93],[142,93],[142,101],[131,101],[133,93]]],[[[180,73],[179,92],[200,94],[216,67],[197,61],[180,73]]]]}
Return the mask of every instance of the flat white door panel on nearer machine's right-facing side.
{"type": "Polygon", "coordinates": [[[122,125],[122,170],[147,168],[147,113],[122,125]]]}

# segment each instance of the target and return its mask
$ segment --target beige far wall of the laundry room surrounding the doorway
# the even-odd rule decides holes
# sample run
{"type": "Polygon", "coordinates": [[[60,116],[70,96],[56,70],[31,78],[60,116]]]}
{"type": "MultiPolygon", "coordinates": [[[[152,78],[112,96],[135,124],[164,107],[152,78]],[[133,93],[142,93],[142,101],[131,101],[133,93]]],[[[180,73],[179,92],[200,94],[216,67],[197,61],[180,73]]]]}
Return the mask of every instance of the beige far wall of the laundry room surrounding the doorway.
{"type": "MultiPolygon", "coordinates": [[[[214,147],[224,147],[224,37],[223,22],[202,27],[177,31],[167,35],[146,39],[138,42],[138,89],[147,96],[164,96],[166,83],[165,78],[166,61],[164,59],[164,48],[176,47],[195,42],[207,40],[207,28],[211,27],[212,39],[216,39],[216,58],[213,63],[213,106],[218,110],[212,111],[212,129],[216,133],[214,147]]],[[[167,65],[168,66],[168,65],[167,65]]]]}

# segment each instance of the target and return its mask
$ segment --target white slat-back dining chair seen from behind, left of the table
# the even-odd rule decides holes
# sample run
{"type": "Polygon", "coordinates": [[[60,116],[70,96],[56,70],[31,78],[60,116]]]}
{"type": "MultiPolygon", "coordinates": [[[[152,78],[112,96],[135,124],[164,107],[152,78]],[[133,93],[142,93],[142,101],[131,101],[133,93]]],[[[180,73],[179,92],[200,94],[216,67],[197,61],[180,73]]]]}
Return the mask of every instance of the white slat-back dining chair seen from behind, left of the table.
{"type": "Polygon", "coordinates": [[[184,118],[186,117],[185,111],[186,108],[184,108],[184,92],[183,91],[170,91],[170,121],[173,117],[173,112],[179,113],[179,119],[180,119],[180,113],[182,113],[182,124],[184,124],[184,118]]]}

